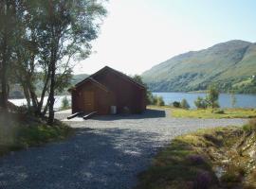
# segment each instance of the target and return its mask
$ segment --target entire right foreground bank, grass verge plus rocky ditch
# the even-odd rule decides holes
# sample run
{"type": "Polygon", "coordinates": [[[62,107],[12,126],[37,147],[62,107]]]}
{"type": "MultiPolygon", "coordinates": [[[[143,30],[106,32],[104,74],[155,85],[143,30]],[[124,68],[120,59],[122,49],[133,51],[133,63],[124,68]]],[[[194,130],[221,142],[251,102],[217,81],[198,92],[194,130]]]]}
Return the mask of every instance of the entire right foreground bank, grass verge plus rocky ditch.
{"type": "Polygon", "coordinates": [[[241,142],[245,134],[243,129],[230,127],[176,137],[138,176],[137,188],[255,188],[256,160],[248,154],[254,150],[256,134],[249,136],[250,144],[241,142]],[[248,145],[252,145],[250,151],[245,148],[248,145]],[[223,170],[221,175],[219,170],[223,170]]]}

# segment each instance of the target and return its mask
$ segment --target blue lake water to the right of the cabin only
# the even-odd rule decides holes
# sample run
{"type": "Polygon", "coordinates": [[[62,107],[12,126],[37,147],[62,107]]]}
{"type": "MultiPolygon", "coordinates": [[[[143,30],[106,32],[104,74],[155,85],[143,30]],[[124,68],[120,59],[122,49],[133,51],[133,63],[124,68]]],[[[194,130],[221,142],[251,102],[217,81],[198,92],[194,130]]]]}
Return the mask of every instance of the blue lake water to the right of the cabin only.
{"type": "MultiPolygon", "coordinates": [[[[165,104],[170,104],[174,101],[181,101],[185,98],[190,104],[191,108],[195,108],[194,100],[198,96],[205,97],[206,94],[192,94],[192,93],[153,93],[162,96],[165,104]]],[[[236,98],[235,108],[256,108],[256,94],[234,94],[236,98]]],[[[220,94],[219,104],[221,108],[232,108],[231,94],[220,94]]]]}

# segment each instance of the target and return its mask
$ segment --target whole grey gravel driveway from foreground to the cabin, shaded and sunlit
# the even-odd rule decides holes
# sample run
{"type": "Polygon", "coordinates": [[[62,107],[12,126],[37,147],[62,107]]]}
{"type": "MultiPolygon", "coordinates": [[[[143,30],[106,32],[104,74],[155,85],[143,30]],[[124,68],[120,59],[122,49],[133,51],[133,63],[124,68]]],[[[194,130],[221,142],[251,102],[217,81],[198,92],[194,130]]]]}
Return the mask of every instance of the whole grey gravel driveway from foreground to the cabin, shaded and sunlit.
{"type": "MultiPolygon", "coordinates": [[[[67,113],[68,114],[68,113],[67,113]]],[[[58,113],[63,119],[67,114],[58,113]]],[[[164,111],[68,122],[75,136],[0,158],[0,189],[132,188],[137,174],[175,136],[200,128],[241,126],[243,119],[167,118],[164,111]]]]}

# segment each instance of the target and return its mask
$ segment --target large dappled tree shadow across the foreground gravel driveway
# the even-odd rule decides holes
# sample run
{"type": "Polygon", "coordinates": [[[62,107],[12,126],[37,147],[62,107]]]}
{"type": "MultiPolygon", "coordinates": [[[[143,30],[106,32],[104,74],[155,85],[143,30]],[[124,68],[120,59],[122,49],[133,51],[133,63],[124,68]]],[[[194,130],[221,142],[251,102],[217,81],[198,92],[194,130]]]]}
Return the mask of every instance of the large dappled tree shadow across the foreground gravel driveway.
{"type": "Polygon", "coordinates": [[[76,129],[62,143],[0,159],[0,188],[131,188],[149,165],[158,135],[130,129],[76,129]]]}

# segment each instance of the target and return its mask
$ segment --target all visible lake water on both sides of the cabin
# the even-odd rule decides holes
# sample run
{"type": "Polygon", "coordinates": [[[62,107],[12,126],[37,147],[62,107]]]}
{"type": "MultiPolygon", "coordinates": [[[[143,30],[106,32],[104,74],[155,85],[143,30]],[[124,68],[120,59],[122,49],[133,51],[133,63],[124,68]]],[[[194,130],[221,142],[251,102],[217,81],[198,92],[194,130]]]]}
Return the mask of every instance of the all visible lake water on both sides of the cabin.
{"type": "MultiPolygon", "coordinates": [[[[191,93],[153,93],[155,95],[162,96],[165,104],[170,104],[174,101],[181,101],[183,98],[185,98],[191,108],[195,108],[194,106],[194,100],[198,97],[205,97],[206,94],[191,94],[191,93]]],[[[234,94],[236,98],[236,104],[235,108],[256,108],[256,94],[234,94]]],[[[66,96],[69,102],[71,102],[71,96],[66,96]]],[[[64,98],[64,95],[58,95],[55,96],[55,105],[54,109],[59,110],[62,107],[62,100],[64,98]]],[[[17,106],[26,105],[27,101],[26,99],[10,99],[10,102],[14,103],[17,106]]],[[[219,103],[221,108],[232,108],[231,103],[231,94],[220,94],[219,97],[219,103]]],[[[46,104],[46,98],[45,98],[45,104],[46,104]]]]}

